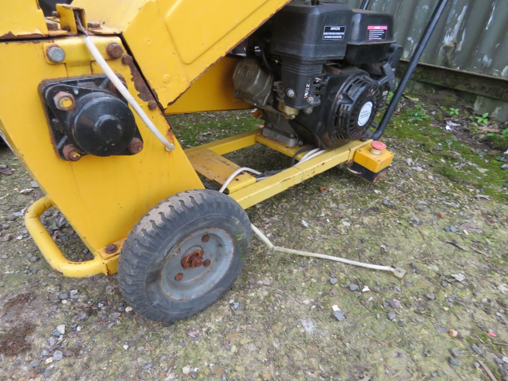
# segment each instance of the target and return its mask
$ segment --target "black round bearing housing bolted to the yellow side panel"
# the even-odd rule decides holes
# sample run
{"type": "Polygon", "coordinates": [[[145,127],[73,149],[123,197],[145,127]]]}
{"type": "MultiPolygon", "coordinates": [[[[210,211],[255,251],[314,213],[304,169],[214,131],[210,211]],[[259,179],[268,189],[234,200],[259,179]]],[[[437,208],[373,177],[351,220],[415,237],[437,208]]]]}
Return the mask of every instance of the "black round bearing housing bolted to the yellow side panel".
{"type": "Polygon", "coordinates": [[[105,75],[44,81],[40,92],[61,158],[75,161],[86,154],[132,155],[142,150],[134,114],[105,75]]]}

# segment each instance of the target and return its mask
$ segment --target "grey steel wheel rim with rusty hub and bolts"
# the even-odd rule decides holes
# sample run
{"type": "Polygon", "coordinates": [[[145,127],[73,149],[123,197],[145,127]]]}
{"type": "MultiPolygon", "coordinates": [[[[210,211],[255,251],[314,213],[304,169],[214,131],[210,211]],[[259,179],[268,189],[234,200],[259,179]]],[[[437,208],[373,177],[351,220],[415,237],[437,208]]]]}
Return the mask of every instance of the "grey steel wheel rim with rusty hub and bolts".
{"type": "Polygon", "coordinates": [[[206,294],[228,272],[234,246],[233,237],[219,228],[199,229],[183,237],[169,250],[163,263],[159,279],[162,292],[175,300],[206,294]],[[193,267],[200,262],[200,250],[202,264],[193,267]]]}

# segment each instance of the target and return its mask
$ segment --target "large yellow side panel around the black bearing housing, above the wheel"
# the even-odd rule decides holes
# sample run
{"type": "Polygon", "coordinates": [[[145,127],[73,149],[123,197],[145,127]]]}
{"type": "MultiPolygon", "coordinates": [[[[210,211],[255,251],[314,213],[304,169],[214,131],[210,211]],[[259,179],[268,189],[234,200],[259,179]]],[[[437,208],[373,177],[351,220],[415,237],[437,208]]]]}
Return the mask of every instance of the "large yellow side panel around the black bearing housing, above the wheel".
{"type": "MultiPolygon", "coordinates": [[[[105,37],[109,39],[109,37],[105,37]]],[[[81,49],[82,37],[70,37],[81,49]]],[[[138,98],[129,66],[110,60],[114,72],[127,80],[127,87],[157,128],[175,144],[168,152],[135,114],[143,137],[143,150],[132,156],[86,155],[67,162],[55,153],[44,115],[38,85],[43,79],[66,77],[66,65],[49,65],[44,58],[47,41],[0,43],[2,84],[0,130],[25,168],[37,180],[55,206],[90,250],[125,238],[148,209],[170,195],[203,188],[187,156],[174,138],[165,115],[150,110],[138,98]]],[[[93,74],[96,65],[87,65],[93,74]]]]}

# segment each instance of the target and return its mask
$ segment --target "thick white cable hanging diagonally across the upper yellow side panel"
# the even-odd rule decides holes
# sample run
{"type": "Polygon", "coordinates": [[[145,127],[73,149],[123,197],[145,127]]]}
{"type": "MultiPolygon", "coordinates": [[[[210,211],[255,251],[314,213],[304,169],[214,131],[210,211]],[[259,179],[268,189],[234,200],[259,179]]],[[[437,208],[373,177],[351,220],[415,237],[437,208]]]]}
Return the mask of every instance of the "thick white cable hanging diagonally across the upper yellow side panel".
{"type": "Polygon", "coordinates": [[[113,70],[111,70],[111,68],[109,67],[108,63],[106,62],[106,60],[102,57],[101,53],[99,52],[99,50],[97,49],[97,47],[95,46],[95,44],[93,43],[92,39],[87,36],[85,37],[85,39],[83,40],[83,42],[85,43],[86,47],[88,48],[88,50],[90,51],[91,55],[93,56],[93,58],[97,61],[98,65],[101,67],[101,69],[104,71],[104,74],[106,74],[106,76],[109,78],[109,80],[115,85],[115,87],[118,89],[118,91],[120,92],[120,94],[122,94],[123,98],[125,98],[127,100],[127,102],[129,102],[129,104],[131,105],[131,107],[134,109],[134,111],[136,111],[136,113],[139,115],[139,117],[143,120],[143,122],[146,124],[146,126],[148,127],[148,130],[151,131],[151,133],[153,135],[155,135],[155,137],[162,143],[164,144],[164,146],[166,147],[166,150],[168,151],[172,151],[173,149],[175,149],[175,146],[173,143],[170,143],[168,139],[166,139],[166,137],[160,132],[157,130],[155,124],[153,124],[153,122],[150,120],[150,118],[148,117],[148,115],[146,115],[146,113],[143,111],[143,109],[141,108],[141,106],[138,104],[138,102],[136,102],[136,100],[134,99],[134,97],[131,95],[131,93],[129,92],[129,90],[123,85],[123,83],[118,79],[118,77],[116,76],[116,74],[113,72],[113,70]]]}

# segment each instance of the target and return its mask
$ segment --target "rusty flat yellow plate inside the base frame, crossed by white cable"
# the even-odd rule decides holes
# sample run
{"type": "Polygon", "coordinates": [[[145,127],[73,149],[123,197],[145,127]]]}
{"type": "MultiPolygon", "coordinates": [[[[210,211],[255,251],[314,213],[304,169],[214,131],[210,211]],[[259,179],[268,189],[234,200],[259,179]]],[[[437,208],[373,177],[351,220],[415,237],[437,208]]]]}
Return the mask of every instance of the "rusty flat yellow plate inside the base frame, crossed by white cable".
{"type": "MultiPolygon", "coordinates": [[[[187,153],[187,152],[185,152],[187,153]]],[[[226,157],[221,156],[209,149],[200,149],[187,153],[187,157],[192,163],[194,169],[209,180],[224,184],[229,176],[233,174],[239,166],[230,162],[226,157]]],[[[229,192],[235,192],[247,185],[256,182],[256,177],[248,173],[240,173],[228,185],[229,192]]]]}

